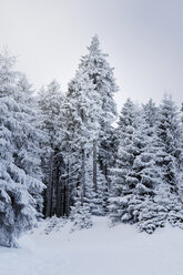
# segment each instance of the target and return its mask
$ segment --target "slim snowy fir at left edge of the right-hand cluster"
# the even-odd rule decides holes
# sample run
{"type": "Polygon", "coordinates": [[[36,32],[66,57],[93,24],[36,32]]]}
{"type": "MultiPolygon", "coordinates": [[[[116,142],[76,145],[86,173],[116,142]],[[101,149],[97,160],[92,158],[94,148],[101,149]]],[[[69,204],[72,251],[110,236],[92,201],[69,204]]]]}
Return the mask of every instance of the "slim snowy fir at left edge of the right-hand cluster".
{"type": "Polygon", "coordinates": [[[136,155],[136,149],[133,142],[134,132],[138,128],[136,118],[136,106],[128,99],[122,108],[116,129],[118,160],[115,167],[112,170],[112,197],[110,198],[110,216],[113,223],[128,216],[125,213],[128,200],[124,196],[130,190],[129,184],[126,184],[126,177],[132,170],[136,155]],[[124,202],[126,203],[124,204],[124,202]]]}

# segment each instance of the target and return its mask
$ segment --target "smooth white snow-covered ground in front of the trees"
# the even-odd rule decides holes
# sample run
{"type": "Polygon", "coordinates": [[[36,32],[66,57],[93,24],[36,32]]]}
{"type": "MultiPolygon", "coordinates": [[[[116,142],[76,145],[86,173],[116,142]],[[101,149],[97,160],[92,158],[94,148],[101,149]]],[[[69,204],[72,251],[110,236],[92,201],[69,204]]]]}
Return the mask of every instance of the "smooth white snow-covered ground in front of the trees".
{"type": "Polygon", "coordinates": [[[134,226],[109,228],[104,217],[91,230],[50,235],[44,224],[20,240],[21,248],[0,248],[0,275],[182,275],[183,231],[166,227],[153,235],[134,226]]]}

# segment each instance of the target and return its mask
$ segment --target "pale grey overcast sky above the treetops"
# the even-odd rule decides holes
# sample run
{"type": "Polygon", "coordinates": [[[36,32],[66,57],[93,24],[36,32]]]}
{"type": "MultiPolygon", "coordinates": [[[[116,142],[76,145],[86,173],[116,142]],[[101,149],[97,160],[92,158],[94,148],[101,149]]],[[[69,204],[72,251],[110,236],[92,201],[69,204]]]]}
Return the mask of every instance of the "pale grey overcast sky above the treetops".
{"type": "Polygon", "coordinates": [[[165,92],[183,101],[183,0],[0,0],[0,47],[37,89],[55,78],[65,90],[95,33],[120,108],[165,92]]]}

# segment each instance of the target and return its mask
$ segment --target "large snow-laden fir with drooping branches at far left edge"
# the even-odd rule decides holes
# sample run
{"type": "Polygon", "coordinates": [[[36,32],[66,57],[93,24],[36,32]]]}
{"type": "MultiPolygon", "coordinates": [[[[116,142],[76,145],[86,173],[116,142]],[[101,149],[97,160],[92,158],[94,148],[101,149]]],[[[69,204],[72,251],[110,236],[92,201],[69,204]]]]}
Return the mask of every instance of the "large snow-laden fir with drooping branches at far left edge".
{"type": "Polygon", "coordinates": [[[21,96],[16,59],[0,54],[0,245],[16,246],[16,238],[34,226],[42,210],[41,134],[31,124],[34,113],[21,96]]]}

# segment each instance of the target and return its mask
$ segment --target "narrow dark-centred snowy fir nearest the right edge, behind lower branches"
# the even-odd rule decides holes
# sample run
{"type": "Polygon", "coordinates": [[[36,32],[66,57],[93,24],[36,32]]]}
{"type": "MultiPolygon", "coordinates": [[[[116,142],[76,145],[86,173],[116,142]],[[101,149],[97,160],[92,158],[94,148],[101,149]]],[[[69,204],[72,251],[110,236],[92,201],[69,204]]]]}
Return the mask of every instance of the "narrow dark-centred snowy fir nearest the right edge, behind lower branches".
{"type": "Polygon", "coordinates": [[[165,95],[160,106],[157,122],[159,143],[162,147],[159,165],[163,180],[169,184],[170,192],[179,190],[179,169],[182,164],[181,126],[179,112],[171,96],[165,95]]]}

